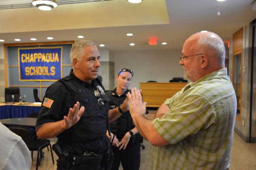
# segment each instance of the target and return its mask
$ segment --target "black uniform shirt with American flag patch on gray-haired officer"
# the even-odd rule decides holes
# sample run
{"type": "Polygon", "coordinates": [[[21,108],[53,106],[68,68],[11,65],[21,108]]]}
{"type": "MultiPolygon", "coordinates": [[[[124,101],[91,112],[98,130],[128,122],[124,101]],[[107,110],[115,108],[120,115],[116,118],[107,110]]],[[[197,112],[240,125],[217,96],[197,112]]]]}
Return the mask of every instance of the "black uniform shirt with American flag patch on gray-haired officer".
{"type": "Polygon", "coordinates": [[[110,141],[106,136],[109,99],[103,89],[98,78],[88,84],[75,77],[71,69],[70,75],[48,87],[37,118],[36,129],[45,123],[63,120],[64,115],[68,115],[69,108],[73,108],[78,101],[80,107],[85,107],[85,111],[75,125],[57,136],[58,143],[63,151],[68,153],[104,153],[110,147],[110,141]],[[94,94],[97,86],[101,86],[100,90],[103,91],[100,97],[94,94]],[[99,98],[103,99],[103,106],[98,103],[99,98]]]}

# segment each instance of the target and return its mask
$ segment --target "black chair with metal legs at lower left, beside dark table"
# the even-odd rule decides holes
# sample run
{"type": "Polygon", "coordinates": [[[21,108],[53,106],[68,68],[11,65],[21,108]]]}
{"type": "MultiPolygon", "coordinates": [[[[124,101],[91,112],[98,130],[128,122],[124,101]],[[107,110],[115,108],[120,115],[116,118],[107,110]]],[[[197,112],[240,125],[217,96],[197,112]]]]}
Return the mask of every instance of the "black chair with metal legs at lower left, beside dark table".
{"type": "Polygon", "coordinates": [[[52,146],[50,144],[50,140],[48,139],[39,139],[36,136],[34,136],[33,132],[26,128],[9,128],[12,132],[17,134],[22,138],[22,140],[26,143],[28,149],[31,151],[31,157],[33,158],[33,151],[37,151],[37,165],[36,165],[36,170],[38,170],[38,166],[40,165],[40,162],[42,160],[43,154],[42,154],[42,149],[50,146],[50,151],[52,154],[52,161],[54,164],[54,159],[53,159],[53,153],[52,153],[52,146]],[[39,153],[40,153],[40,158],[39,158],[39,153]]]}

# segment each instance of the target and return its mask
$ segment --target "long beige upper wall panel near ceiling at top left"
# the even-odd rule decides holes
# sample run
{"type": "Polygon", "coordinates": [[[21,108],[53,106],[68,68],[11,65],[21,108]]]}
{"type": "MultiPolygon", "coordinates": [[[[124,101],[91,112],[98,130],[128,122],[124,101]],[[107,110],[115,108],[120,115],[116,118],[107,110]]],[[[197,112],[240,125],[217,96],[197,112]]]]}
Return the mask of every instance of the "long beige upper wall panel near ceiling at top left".
{"type": "Polygon", "coordinates": [[[146,0],[136,5],[117,0],[58,5],[47,12],[36,7],[1,10],[0,23],[4,23],[0,24],[0,33],[15,33],[169,24],[169,17],[165,0],[146,0]]]}

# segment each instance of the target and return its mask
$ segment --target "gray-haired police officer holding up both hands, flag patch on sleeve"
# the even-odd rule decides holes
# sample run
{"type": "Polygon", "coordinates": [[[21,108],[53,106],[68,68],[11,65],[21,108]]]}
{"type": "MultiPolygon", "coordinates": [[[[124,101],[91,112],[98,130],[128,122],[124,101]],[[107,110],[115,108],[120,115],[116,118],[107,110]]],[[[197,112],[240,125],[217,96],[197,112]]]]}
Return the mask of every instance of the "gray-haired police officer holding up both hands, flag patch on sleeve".
{"type": "MultiPolygon", "coordinates": [[[[107,170],[111,168],[110,141],[106,136],[108,117],[121,112],[109,110],[109,98],[97,77],[100,53],[92,41],[82,40],[70,51],[70,75],[50,85],[37,118],[39,138],[57,136],[54,151],[59,170],[107,170]]],[[[127,111],[127,101],[121,106],[127,111]]]]}

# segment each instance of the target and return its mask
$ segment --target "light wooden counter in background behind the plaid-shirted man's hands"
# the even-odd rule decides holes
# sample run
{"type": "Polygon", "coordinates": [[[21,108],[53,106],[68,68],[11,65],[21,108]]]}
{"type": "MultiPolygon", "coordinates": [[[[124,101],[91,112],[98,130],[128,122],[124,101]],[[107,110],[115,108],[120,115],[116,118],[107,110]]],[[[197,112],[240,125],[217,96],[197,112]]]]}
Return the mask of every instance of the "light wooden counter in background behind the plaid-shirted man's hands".
{"type": "Polygon", "coordinates": [[[143,101],[146,107],[159,107],[167,98],[171,98],[187,83],[140,83],[143,101]]]}

